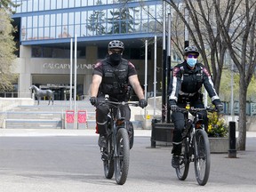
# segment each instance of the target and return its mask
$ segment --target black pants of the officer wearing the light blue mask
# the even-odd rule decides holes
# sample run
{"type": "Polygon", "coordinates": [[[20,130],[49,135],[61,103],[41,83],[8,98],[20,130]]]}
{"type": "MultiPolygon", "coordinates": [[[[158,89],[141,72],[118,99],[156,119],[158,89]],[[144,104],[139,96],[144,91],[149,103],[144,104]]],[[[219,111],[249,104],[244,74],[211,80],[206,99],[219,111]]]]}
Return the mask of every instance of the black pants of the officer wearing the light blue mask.
{"type": "MultiPolygon", "coordinates": [[[[186,103],[177,103],[177,105],[180,108],[186,107],[186,103]]],[[[195,100],[195,101],[193,100],[190,102],[190,107],[204,108],[204,103],[201,100],[195,100]]],[[[201,111],[199,113],[199,117],[200,116],[201,118],[203,118],[204,129],[205,131],[207,131],[208,117],[207,117],[206,111],[201,111]]],[[[174,130],[172,133],[172,144],[173,144],[172,153],[174,155],[180,155],[180,152],[181,152],[180,144],[182,141],[182,130],[185,126],[185,115],[178,111],[172,112],[172,123],[174,124],[174,130]]]]}

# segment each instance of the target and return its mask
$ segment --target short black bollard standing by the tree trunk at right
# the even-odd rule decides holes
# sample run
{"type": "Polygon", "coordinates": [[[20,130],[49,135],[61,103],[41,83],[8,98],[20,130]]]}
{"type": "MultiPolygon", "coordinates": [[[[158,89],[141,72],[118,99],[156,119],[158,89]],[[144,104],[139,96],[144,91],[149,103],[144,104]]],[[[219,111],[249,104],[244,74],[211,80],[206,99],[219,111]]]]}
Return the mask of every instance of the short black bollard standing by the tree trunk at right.
{"type": "Polygon", "coordinates": [[[229,122],[229,149],[228,157],[236,158],[236,122],[229,122]]]}

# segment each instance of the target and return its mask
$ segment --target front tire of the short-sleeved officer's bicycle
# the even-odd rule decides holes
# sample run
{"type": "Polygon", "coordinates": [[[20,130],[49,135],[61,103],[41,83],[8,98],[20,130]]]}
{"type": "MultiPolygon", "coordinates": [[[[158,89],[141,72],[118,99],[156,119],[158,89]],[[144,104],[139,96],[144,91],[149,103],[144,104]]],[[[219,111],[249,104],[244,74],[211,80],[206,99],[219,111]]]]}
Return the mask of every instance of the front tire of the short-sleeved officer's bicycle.
{"type": "Polygon", "coordinates": [[[120,128],[116,134],[116,156],[114,157],[116,183],[123,185],[127,179],[130,161],[128,132],[120,128]]]}

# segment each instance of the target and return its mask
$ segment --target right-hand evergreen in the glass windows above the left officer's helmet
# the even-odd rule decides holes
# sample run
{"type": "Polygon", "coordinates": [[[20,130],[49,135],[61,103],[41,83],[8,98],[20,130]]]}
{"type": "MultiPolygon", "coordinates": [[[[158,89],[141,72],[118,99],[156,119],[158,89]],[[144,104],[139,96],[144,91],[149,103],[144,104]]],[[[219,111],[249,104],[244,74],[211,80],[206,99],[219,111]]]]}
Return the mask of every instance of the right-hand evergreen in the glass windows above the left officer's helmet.
{"type": "Polygon", "coordinates": [[[109,34],[132,33],[135,30],[133,26],[139,25],[139,23],[135,22],[131,14],[131,11],[139,11],[137,11],[136,8],[125,6],[129,1],[131,0],[120,0],[119,2],[123,4],[121,4],[119,8],[110,11],[112,17],[108,18],[108,23],[113,26],[110,29],[109,34]]]}

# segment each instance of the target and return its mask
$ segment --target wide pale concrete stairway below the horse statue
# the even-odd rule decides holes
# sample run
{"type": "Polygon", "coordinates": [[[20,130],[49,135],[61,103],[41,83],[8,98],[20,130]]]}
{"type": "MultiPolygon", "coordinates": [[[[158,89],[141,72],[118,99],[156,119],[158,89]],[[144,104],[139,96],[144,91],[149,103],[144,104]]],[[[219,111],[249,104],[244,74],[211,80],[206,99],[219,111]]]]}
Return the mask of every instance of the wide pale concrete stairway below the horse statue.
{"type": "MultiPolygon", "coordinates": [[[[87,110],[88,123],[95,127],[95,109],[88,101],[77,100],[76,108],[78,110],[87,110]]],[[[2,112],[3,128],[6,129],[64,129],[66,111],[69,110],[69,101],[54,100],[53,105],[48,105],[47,100],[42,100],[40,105],[18,106],[11,110],[2,112]]],[[[88,125],[87,123],[87,125],[88,125]]],[[[74,128],[68,126],[69,128],[74,128]]],[[[85,128],[85,127],[84,127],[85,128]]]]}

